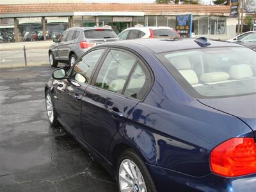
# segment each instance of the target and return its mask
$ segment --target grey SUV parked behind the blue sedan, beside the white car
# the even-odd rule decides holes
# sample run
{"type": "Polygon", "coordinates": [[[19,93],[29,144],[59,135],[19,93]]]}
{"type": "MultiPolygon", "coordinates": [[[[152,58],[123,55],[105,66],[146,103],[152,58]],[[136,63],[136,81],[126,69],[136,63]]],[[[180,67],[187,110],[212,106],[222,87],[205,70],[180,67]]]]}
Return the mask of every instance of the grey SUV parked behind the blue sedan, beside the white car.
{"type": "Polygon", "coordinates": [[[57,67],[58,62],[74,65],[76,60],[88,49],[103,42],[117,41],[118,36],[109,28],[69,28],[60,38],[54,38],[56,44],[49,47],[49,63],[57,67]]]}

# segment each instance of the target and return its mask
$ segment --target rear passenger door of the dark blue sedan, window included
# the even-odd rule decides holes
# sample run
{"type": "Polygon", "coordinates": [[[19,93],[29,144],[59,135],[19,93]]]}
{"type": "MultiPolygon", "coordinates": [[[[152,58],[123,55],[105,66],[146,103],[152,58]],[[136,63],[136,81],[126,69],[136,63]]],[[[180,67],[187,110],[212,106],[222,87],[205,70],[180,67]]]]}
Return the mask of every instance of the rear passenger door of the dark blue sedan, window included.
{"type": "Polygon", "coordinates": [[[148,72],[131,52],[110,49],[86,88],[82,101],[82,124],[86,143],[108,157],[115,133],[147,90],[148,72]]]}

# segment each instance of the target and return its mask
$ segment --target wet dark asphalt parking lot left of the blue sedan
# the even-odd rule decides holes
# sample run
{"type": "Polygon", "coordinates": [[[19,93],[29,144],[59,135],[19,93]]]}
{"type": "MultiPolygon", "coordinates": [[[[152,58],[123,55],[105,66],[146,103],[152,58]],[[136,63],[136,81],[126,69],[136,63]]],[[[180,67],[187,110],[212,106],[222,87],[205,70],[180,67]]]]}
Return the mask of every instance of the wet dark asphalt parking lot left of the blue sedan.
{"type": "Polygon", "coordinates": [[[44,83],[51,71],[0,70],[0,191],[118,191],[71,136],[49,125],[44,83]]]}

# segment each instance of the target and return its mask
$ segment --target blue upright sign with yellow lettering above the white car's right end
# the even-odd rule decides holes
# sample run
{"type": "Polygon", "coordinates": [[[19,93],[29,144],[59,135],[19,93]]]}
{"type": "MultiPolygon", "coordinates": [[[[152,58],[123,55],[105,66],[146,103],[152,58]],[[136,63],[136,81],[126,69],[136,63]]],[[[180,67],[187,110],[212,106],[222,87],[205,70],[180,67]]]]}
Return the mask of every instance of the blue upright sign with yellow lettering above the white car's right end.
{"type": "Polygon", "coordinates": [[[176,15],[176,31],[179,32],[180,36],[187,36],[191,38],[192,14],[176,15]]]}

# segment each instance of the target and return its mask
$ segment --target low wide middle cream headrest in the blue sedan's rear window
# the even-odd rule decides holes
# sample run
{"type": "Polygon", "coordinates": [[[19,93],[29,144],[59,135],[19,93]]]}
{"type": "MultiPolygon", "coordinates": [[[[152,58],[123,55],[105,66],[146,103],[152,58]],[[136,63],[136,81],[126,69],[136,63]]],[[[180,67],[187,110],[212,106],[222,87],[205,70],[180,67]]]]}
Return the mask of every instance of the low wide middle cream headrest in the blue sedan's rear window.
{"type": "Polygon", "coordinates": [[[229,77],[228,73],[219,71],[202,74],[200,76],[200,80],[204,83],[211,83],[216,81],[225,81],[229,79],[229,77]]]}

